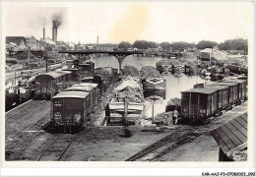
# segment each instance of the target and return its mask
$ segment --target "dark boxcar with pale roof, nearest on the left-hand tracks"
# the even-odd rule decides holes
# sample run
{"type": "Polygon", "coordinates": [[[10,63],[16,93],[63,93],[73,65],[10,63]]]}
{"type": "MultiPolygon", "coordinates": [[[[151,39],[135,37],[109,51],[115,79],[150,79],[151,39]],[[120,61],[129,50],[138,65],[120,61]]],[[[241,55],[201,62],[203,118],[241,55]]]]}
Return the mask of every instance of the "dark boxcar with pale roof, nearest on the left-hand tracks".
{"type": "Polygon", "coordinates": [[[89,92],[62,92],[52,97],[52,117],[50,127],[53,131],[63,128],[64,132],[78,132],[90,114],[89,92]]]}

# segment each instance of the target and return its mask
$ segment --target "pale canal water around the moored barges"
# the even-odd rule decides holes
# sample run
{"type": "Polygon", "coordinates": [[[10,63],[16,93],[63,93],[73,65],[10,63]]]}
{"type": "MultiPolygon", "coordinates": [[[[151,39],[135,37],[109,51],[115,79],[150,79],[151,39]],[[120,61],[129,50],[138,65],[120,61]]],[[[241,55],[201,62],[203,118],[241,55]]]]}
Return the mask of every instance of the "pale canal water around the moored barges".
{"type": "MultiPolygon", "coordinates": [[[[132,65],[140,71],[144,66],[156,67],[156,63],[160,60],[162,60],[161,57],[142,57],[142,56],[137,57],[137,56],[130,55],[123,60],[122,68],[124,68],[125,65],[132,65]]],[[[118,61],[114,56],[94,58],[93,61],[95,62],[96,68],[107,67],[107,66],[113,67],[116,69],[119,68],[118,61]]],[[[166,79],[166,98],[154,104],[154,115],[165,111],[165,106],[167,105],[167,102],[169,101],[170,98],[173,98],[173,97],[181,98],[180,91],[186,90],[186,89],[192,89],[195,84],[200,84],[205,82],[205,80],[199,76],[187,76],[183,73],[179,76],[170,74],[168,76],[163,76],[163,78],[166,79]]],[[[152,104],[153,103],[149,101],[146,102],[147,117],[152,116],[152,107],[153,107],[152,104]]]]}

